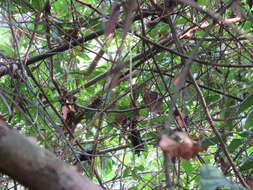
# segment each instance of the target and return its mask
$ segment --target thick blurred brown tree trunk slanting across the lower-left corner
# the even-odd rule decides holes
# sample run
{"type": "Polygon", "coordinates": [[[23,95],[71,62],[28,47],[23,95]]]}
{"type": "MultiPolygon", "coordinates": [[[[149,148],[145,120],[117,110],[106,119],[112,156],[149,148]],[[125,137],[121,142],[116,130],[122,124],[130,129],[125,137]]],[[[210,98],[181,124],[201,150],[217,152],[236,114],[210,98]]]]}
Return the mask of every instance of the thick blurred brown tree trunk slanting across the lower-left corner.
{"type": "Polygon", "coordinates": [[[32,190],[101,190],[75,167],[0,121],[0,172],[32,190]]]}

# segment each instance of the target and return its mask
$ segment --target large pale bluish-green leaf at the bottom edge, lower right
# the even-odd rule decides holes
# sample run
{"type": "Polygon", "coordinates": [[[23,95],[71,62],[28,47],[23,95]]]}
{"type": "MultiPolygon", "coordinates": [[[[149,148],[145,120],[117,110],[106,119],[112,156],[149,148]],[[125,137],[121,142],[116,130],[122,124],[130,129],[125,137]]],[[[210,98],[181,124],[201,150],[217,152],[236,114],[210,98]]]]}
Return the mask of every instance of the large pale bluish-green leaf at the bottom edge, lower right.
{"type": "Polygon", "coordinates": [[[244,189],[242,186],[230,182],[220,170],[211,165],[205,165],[201,168],[200,183],[202,190],[215,190],[217,187],[244,189]]]}

